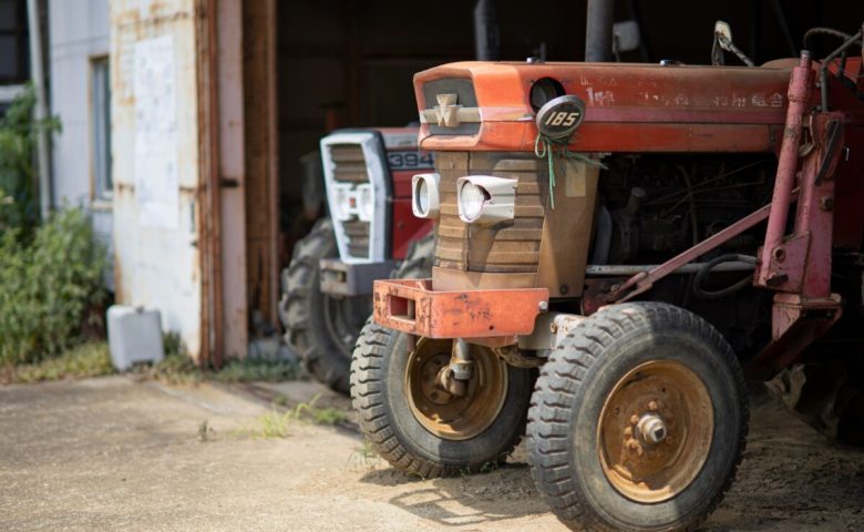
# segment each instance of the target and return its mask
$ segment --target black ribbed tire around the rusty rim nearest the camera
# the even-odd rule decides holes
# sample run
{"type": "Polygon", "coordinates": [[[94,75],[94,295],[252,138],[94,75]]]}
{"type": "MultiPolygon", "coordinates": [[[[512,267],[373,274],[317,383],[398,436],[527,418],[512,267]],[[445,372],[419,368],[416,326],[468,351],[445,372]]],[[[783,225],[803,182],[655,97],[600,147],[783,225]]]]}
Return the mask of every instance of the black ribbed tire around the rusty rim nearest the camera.
{"type": "MultiPolygon", "coordinates": [[[[672,396],[670,390],[668,398],[661,398],[671,401],[672,396]]],[[[617,415],[616,405],[610,405],[617,415]]],[[[629,416],[625,410],[623,415],[629,416]]],[[[741,367],[713,327],[671,305],[615,305],[579,324],[542,368],[528,415],[528,460],[534,481],[553,512],[574,530],[692,530],[731,484],[748,423],[741,367]],[[700,440],[706,442],[707,453],[699,454],[704,463],[685,464],[692,471],[691,480],[670,499],[646,503],[625,497],[604,471],[598,429],[608,396],[637,381],[640,374],[634,374],[635,368],[658,362],[679,365],[701,380],[704,397],[710,397],[703,411],[712,408],[713,420],[711,430],[703,432],[711,438],[700,440]],[[629,375],[635,378],[625,380],[629,375]]],[[[661,440],[657,446],[671,441],[661,440]]],[[[680,444],[685,441],[692,438],[681,438],[680,444]]]]}

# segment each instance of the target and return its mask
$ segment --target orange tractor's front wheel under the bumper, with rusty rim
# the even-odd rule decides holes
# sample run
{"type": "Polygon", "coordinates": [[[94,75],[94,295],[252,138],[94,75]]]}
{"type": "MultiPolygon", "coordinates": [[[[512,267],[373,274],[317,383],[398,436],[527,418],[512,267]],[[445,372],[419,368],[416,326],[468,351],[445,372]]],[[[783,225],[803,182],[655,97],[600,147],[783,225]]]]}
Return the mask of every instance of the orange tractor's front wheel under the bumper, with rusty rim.
{"type": "Polygon", "coordinates": [[[503,461],[525,427],[533,371],[471,346],[474,375],[463,396],[435,385],[453,340],[420,338],[370,321],[351,364],[360,428],[394,468],[423,478],[481,471],[503,461]]]}

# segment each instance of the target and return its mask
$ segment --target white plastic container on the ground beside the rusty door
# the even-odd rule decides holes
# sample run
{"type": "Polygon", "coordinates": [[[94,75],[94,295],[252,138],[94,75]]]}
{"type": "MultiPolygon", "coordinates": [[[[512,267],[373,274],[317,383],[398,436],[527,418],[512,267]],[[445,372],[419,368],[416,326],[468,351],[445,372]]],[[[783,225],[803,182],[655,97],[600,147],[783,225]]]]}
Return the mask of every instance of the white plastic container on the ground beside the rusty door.
{"type": "Polygon", "coordinates": [[[125,371],[135,362],[158,362],[165,358],[158,310],[112,305],[107,311],[111,362],[125,371]]]}

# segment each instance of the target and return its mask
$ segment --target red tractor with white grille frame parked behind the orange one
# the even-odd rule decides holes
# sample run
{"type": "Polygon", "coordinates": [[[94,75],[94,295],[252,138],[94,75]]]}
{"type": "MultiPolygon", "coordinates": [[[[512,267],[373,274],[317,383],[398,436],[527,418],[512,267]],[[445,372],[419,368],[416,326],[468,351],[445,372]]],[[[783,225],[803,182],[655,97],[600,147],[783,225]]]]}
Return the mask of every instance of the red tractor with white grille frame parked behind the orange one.
{"type": "Polygon", "coordinates": [[[372,311],[372,280],[428,276],[431,224],[411,212],[411,176],[431,171],[416,127],[341,130],[321,139],[329,217],[297,243],[282,273],[285,338],[306,368],[348,392],[351,351],[372,311]]]}

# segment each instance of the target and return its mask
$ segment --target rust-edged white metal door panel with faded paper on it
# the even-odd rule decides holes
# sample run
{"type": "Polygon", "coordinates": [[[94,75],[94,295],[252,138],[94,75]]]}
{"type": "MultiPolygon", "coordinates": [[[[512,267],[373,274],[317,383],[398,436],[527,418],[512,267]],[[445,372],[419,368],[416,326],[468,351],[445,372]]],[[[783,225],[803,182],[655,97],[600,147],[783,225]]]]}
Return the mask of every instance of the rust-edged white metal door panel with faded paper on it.
{"type": "Polygon", "coordinates": [[[111,27],[116,297],[123,304],[158,308],[163,328],[178,331],[198,358],[203,331],[195,2],[113,0],[111,27]],[[142,74],[154,71],[157,75],[150,80],[142,74]],[[144,108],[136,105],[142,99],[148,102],[144,108]]]}

